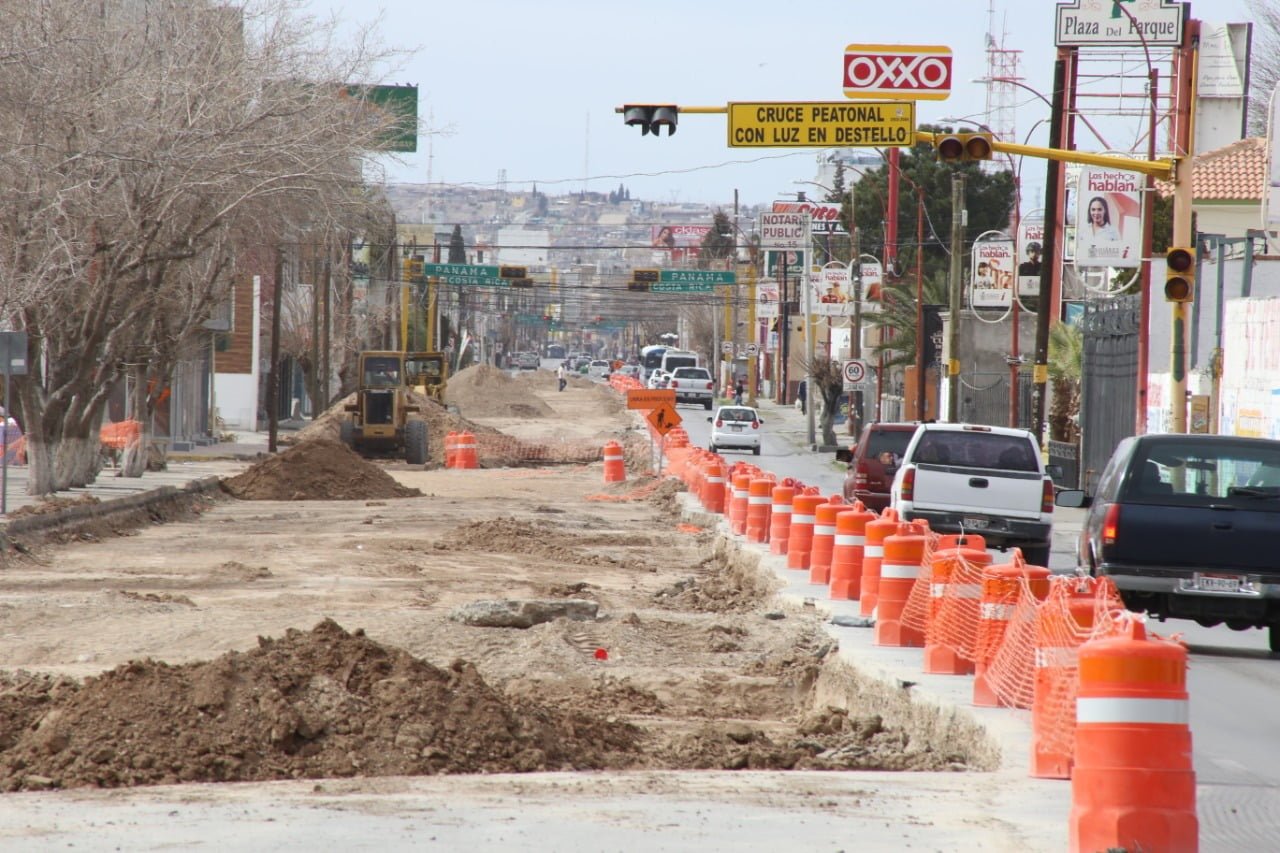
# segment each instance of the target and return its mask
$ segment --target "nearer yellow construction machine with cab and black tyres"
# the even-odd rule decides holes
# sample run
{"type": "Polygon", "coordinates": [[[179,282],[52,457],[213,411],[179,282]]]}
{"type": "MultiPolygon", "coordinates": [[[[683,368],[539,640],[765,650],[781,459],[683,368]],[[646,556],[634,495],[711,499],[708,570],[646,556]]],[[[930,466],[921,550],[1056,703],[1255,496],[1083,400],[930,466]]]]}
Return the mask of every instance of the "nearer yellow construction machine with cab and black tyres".
{"type": "MultiPolygon", "coordinates": [[[[417,355],[422,353],[412,353],[417,355]]],[[[346,406],[340,437],[361,456],[403,452],[410,465],[426,464],[426,421],[408,397],[407,366],[412,356],[360,353],[360,388],[356,401],[346,406]]]]}

